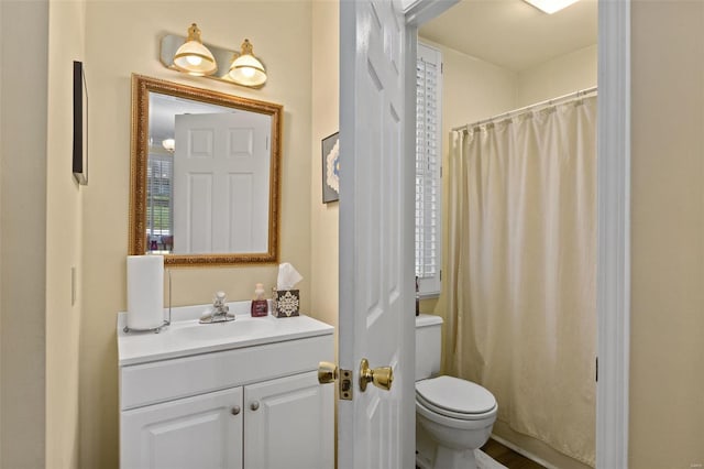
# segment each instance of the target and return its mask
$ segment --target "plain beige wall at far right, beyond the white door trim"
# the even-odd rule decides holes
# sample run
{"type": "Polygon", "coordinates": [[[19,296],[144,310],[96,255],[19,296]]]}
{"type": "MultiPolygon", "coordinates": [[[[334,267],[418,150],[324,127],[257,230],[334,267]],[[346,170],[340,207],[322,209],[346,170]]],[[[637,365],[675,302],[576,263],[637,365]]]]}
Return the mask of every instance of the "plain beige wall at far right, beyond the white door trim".
{"type": "Polygon", "coordinates": [[[635,1],[631,11],[629,462],[700,467],[704,2],[635,1]]]}

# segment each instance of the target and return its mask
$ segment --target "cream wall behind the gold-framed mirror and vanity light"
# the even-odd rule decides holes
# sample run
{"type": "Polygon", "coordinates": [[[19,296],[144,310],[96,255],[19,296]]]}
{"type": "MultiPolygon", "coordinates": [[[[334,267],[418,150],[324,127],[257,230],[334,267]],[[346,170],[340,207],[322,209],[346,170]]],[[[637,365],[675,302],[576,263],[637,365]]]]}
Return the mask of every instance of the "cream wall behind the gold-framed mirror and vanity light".
{"type": "MultiPolygon", "coordinates": [[[[116,315],[125,308],[132,73],[208,87],[284,106],[282,261],[304,275],[301,308],[310,306],[310,3],[304,1],[90,1],[86,11],[90,185],[84,192],[80,466],[118,465],[116,315]],[[158,41],[197,22],[204,41],[237,48],[248,37],[270,79],[261,90],[189,77],[158,62],[158,41]]],[[[256,282],[271,287],[276,266],[179,269],[177,305],[208,303],[222,290],[249,299],[256,282]]]]}

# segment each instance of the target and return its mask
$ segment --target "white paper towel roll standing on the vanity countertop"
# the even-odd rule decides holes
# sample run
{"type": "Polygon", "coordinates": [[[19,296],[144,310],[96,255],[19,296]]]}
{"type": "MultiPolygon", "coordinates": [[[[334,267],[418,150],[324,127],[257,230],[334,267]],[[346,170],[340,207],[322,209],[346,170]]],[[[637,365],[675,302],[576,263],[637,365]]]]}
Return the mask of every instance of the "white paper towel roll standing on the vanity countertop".
{"type": "Polygon", "coordinates": [[[128,255],[128,327],[152,329],[164,323],[164,257],[128,255]]]}

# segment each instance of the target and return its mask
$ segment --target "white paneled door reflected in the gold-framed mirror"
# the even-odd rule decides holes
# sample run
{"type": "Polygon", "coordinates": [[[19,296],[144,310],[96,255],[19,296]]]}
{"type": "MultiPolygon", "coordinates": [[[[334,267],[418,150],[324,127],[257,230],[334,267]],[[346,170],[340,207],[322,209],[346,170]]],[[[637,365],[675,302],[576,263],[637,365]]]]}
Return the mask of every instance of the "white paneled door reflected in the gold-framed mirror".
{"type": "Polygon", "coordinates": [[[174,253],[266,252],[271,117],[179,114],[174,253]]]}

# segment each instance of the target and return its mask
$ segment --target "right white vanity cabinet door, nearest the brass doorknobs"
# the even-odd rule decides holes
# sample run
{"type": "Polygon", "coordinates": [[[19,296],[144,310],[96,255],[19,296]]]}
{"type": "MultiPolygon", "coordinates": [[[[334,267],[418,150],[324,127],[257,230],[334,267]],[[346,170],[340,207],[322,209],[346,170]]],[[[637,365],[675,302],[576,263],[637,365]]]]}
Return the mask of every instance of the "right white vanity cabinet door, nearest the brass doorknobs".
{"type": "Polygon", "coordinates": [[[333,468],[333,393],[317,371],[245,386],[244,468],[333,468]]]}

